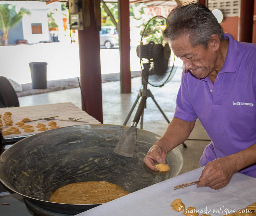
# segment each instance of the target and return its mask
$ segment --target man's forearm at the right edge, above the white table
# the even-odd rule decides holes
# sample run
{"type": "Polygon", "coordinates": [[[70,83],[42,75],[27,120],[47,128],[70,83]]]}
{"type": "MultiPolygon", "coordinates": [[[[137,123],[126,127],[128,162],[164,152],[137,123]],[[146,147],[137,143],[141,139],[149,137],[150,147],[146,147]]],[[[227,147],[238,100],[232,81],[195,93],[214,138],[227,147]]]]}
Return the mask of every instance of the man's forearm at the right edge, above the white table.
{"type": "Polygon", "coordinates": [[[235,171],[239,171],[256,163],[256,143],[240,152],[227,156],[235,163],[235,171]]]}

